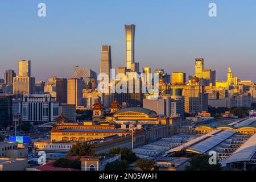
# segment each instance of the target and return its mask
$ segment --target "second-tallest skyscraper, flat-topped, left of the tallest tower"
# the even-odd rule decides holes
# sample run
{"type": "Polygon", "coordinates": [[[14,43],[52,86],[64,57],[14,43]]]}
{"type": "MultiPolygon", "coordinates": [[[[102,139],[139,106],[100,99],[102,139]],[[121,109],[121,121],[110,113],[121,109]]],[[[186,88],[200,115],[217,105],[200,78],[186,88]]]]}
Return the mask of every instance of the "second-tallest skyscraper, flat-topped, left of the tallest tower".
{"type": "Polygon", "coordinates": [[[105,73],[110,81],[110,69],[112,69],[111,47],[101,46],[101,74],[105,73]]]}

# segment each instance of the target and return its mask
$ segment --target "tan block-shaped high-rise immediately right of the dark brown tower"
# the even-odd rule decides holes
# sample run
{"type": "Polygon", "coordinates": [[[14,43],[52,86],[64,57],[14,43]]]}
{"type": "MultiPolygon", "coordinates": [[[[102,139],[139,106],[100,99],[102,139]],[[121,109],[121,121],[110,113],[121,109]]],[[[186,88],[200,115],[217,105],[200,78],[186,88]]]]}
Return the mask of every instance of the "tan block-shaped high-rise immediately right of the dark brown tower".
{"type": "Polygon", "coordinates": [[[82,106],[82,79],[68,79],[68,104],[82,106]]]}

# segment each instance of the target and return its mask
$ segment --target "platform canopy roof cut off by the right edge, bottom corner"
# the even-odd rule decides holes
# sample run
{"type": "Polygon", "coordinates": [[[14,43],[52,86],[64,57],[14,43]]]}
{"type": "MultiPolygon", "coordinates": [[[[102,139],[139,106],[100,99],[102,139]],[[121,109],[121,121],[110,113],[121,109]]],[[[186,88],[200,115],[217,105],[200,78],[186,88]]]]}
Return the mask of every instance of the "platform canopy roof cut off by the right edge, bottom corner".
{"type": "Polygon", "coordinates": [[[225,163],[248,162],[256,153],[256,134],[250,137],[225,163]]]}

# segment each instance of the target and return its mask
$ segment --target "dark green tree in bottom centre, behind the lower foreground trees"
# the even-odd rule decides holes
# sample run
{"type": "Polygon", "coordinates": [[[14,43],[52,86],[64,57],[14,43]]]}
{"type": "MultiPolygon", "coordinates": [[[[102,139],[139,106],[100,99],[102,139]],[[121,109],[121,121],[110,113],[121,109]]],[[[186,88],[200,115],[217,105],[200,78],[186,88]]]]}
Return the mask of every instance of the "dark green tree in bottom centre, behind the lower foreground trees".
{"type": "Polygon", "coordinates": [[[120,154],[122,160],[127,160],[128,163],[135,162],[138,159],[136,154],[128,148],[112,148],[109,154],[120,154]]]}

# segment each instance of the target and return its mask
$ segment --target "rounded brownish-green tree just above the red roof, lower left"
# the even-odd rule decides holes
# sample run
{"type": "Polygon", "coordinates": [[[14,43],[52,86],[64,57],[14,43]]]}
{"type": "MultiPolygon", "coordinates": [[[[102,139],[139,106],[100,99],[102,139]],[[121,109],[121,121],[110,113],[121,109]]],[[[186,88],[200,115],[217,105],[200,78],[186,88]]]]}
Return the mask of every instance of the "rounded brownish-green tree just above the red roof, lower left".
{"type": "Polygon", "coordinates": [[[71,147],[68,151],[69,156],[82,156],[82,155],[93,155],[94,150],[89,144],[77,143],[71,147]]]}

